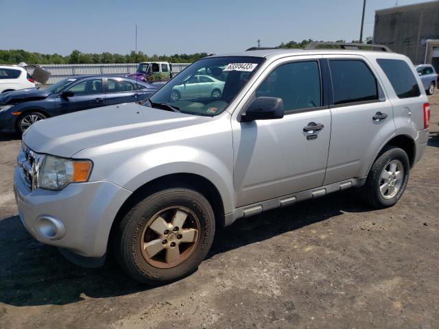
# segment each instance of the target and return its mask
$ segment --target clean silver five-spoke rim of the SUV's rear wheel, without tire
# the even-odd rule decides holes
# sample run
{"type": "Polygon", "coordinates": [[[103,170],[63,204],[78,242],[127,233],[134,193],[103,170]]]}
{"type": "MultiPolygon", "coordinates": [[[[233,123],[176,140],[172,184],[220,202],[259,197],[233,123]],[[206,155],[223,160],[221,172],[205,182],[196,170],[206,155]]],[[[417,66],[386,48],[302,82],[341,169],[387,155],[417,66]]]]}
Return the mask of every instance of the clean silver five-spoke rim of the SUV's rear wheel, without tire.
{"type": "Polygon", "coordinates": [[[384,199],[392,199],[403,185],[404,166],[400,160],[392,160],[381,171],[379,192],[384,199]]]}

